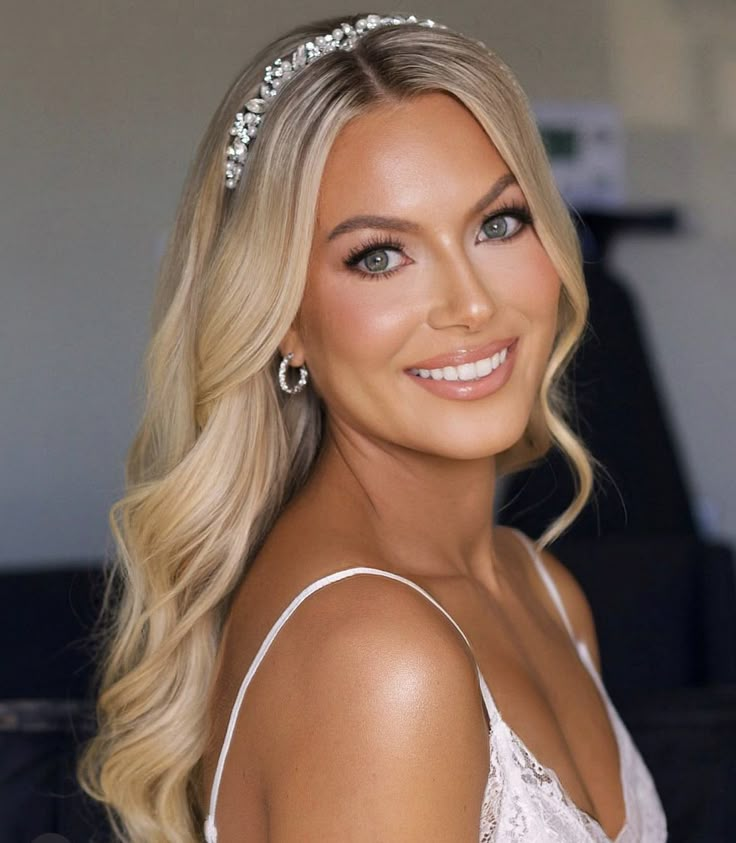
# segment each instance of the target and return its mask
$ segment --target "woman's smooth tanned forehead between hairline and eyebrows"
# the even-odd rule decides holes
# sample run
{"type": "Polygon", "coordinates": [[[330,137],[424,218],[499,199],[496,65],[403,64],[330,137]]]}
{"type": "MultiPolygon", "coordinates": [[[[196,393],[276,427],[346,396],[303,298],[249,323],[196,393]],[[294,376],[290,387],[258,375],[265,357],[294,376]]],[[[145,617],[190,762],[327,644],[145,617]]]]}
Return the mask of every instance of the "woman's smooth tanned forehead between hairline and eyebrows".
{"type": "Polygon", "coordinates": [[[410,216],[425,201],[467,205],[506,172],[483,128],[449,94],[378,105],[335,139],[320,186],[319,225],[378,209],[410,216]]]}

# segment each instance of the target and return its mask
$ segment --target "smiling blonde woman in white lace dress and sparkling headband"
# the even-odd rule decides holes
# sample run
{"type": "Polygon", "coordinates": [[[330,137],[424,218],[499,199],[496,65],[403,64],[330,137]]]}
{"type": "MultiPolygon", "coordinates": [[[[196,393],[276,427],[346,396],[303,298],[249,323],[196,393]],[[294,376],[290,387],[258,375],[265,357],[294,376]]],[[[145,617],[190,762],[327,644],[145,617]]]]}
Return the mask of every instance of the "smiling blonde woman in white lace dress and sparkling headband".
{"type": "Polygon", "coordinates": [[[80,774],[121,839],[665,839],[543,550],[592,486],[561,385],[586,308],[481,42],[334,18],[246,68],[181,203],[111,519],[80,774]],[[579,491],[535,549],[492,523],[496,480],[553,442],[579,491]]]}

